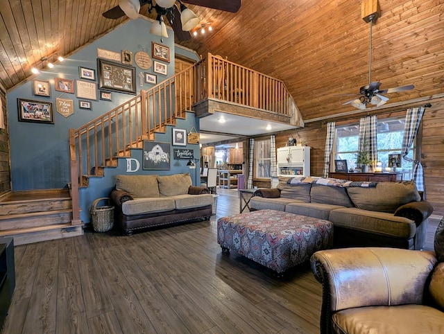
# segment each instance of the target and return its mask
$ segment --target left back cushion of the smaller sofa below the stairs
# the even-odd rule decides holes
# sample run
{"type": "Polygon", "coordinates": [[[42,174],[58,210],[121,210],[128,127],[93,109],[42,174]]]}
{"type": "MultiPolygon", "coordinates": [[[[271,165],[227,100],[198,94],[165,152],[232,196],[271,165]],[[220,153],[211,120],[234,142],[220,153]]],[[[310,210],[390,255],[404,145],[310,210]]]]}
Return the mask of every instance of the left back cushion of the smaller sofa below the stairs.
{"type": "Polygon", "coordinates": [[[116,175],[116,189],[126,191],[134,198],[160,196],[157,175],[116,175]]]}

